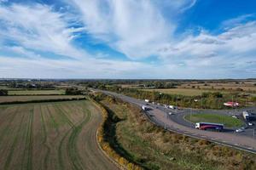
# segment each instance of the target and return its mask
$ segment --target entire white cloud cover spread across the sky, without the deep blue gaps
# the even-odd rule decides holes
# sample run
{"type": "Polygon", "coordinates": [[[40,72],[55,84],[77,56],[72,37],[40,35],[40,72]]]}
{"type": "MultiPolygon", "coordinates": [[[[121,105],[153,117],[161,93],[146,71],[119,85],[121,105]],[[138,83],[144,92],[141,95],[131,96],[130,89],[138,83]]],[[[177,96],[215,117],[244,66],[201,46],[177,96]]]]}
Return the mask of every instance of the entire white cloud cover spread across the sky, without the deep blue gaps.
{"type": "Polygon", "coordinates": [[[226,29],[217,35],[202,29],[196,36],[191,33],[186,33],[183,39],[173,36],[177,21],[172,17],[195,3],[195,0],[73,0],[84,21],[84,27],[79,28],[73,27],[73,21],[79,20],[64,9],[55,11],[36,3],[0,4],[0,50],[11,52],[8,57],[0,54],[0,77],[255,77],[256,22],[245,22],[247,16],[226,21],[226,29]],[[171,19],[163,14],[163,8],[172,11],[171,19]],[[83,31],[131,59],[156,55],[160,61],[148,64],[114,60],[104,51],[96,56],[88,54],[73,43],[83,31]],[[49,59],[40,52],[74,59],[49,59]],[[12,58],[11,54],[20,58],[12,58]]]}

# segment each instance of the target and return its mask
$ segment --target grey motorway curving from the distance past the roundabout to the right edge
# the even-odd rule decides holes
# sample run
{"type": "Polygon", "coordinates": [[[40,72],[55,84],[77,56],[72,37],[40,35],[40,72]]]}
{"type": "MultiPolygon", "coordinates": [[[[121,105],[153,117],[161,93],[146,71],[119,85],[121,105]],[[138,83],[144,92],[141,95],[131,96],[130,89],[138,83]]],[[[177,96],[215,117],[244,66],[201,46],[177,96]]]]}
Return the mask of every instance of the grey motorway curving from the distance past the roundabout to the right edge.
{"type": "MultiPolygon", "coordinates": [[[[140,107],[148,104],[142,99],[134,99],[123,94],[116,94],[103,90],[96,91],[112,95],[116,98],[122,99],[126,102],[138,105],[140,107]]],[[[195,126],[193,124],[183,120],[183,116],[190,113],[191,109],[183,109],[177,111],[177,114],[170,116],[168,115],[170,109],[167,109],[162,105],[148,104],[148,108],[149,111],[144,112],[148,119],[157,126],[166,128],[166,130],[175,133],[181,133],[196,139],[207,139],[209,141],[212,141],[213,143],[227,145],[239,150],[246,150],[248,152],[256,154],[256,137],[254,137],[253,135],[250,136],[247,135],[247,133],[234,133],[234,130],[232,129],[228,129],[227,132],[203,131],[195,129],[195,126]]],[[[227,112],[225,111],[225,113],[227,112]]]]}

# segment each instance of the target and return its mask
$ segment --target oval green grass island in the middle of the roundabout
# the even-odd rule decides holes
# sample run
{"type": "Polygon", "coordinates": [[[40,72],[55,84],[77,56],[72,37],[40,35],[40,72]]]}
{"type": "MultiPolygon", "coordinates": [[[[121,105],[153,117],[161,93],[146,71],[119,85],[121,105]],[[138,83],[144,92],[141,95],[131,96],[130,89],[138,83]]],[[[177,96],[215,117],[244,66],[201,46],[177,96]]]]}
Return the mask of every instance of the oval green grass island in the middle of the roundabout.
{"type": "Polygon", "coordinates": [[[215,122],[223,123],[225,127],[241,127],[243,122],[240,119],[236,119],[227,115],[218,115],[218,114],[191,114],[184,117],[189,122],[215,122]]]}

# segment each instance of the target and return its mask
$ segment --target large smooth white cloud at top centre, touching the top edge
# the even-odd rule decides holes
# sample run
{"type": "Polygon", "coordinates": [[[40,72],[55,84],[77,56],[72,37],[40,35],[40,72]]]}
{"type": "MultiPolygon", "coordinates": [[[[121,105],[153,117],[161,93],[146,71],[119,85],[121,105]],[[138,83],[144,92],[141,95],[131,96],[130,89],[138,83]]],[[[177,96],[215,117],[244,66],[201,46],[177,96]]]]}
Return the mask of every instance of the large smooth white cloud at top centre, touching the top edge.
{"type": "Polygon", "coordinates": [[[86,30],[131,59],[154,53],[167,42],[175,25],[165,20],[151,1],[73,0],[83,15],[86,30]]]}

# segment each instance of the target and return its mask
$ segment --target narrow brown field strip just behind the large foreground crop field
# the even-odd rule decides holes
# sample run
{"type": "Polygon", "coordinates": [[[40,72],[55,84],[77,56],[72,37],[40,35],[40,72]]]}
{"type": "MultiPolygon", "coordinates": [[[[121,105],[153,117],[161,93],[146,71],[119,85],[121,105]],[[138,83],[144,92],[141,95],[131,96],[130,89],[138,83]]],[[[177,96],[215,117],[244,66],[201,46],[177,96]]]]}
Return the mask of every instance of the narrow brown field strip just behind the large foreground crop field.
{"type": "Polygon", "coordinates": [[[83,95],[45,95],[45,96],[0,96],[0,104],[5,102],[25,102],[32,100],[46,100],[46,99],[80,99],[83,95]]]}

